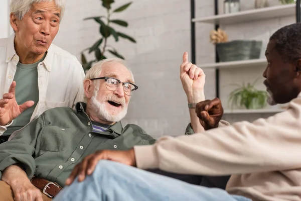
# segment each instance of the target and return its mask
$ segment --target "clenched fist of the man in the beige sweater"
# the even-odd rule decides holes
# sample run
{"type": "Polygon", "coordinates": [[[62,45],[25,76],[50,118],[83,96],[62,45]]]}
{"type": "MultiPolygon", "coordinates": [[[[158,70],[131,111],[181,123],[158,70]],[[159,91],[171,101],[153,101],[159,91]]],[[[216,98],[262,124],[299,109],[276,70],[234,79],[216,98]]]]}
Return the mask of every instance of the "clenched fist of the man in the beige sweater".
{"type": "Polygon", "coordinates": [[[221,100],[216,97],[213,100],[204,100],[198,103],[196,113],[203,128],[209,130],[218,127],[218,123],[224,114],[224,109],[221,100]]]}

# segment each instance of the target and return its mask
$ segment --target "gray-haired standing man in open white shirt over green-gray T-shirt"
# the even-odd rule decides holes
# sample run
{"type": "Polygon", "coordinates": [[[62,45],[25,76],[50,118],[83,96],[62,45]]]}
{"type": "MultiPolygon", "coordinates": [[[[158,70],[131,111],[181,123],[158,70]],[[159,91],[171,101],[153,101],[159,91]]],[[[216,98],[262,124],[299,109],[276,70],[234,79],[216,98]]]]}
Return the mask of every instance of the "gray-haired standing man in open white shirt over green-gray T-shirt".
{"type": "Polygon", "coordinates": [[[63,0],[12,0],[10,7],[14,34],[0,39],[0,143],[47,109],[83,98],[81,64],[52,44],[63,0]]]}

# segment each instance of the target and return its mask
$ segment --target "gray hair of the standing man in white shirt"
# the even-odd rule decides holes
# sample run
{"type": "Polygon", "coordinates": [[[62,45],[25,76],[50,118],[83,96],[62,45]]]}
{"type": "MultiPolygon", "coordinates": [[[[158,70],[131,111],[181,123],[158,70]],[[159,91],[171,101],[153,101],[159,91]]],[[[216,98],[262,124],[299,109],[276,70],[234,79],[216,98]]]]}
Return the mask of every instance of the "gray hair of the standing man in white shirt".
{"type": "Polygon", "coordinates": [[[43,2],[54,2],[56,6],[61,10],[61,19],[65,12],[64,0],[11,0],[11,13],[14,13],[19,20],[22,20],[27,12],[30,11],[34,4],[40,4],[43,2]]]}

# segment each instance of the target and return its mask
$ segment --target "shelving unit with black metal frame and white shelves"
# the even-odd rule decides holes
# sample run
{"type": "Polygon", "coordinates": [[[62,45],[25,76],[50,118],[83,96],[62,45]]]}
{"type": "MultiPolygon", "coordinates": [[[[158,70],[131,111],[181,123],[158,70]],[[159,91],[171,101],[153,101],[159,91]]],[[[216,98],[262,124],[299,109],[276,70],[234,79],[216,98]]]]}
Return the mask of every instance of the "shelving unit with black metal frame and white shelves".
{"type": "MultiPolygon", "coordinates": [[[[195,18],[195,0],[191,0],[191,50],[192,50],[192,63],[196,62],[196,23],[211,23],[215,25],[215,29],[217,30],[220,25],[229,25],[229,24],[237,24],[243,22],[252,22],[258,20],[286,17],[295,15],[296,22],[301,22],[301,8],[300,8],[301,0],[296,0],[296,4],[289,5],[281,5],[274,7],[267,7],[262,9],[253,9],[248,11],[242,11],[232,14],[221,14],[218,13],[218,0],[214,0],[214,16],[209,16],[205,18],[195,18]]],[[[253,60],[242,60],[242,61],[231,61],[231,62],[219,62],[217,52],[215,63],[208,64],[198,64],[199,67],[204,69],[215,69],[215,77],[216,77],[216,97],[219,97],[219,74],[220,69],[227,68],[249,68],[249,67],[259,67],[266,66],[266,59],[253,59],[253,60]]],[[[263,110],[226,110],[224,114],[248,114],[248,113],[278,113],[282,112],[282,109],[263,109],[263,110]]]]}

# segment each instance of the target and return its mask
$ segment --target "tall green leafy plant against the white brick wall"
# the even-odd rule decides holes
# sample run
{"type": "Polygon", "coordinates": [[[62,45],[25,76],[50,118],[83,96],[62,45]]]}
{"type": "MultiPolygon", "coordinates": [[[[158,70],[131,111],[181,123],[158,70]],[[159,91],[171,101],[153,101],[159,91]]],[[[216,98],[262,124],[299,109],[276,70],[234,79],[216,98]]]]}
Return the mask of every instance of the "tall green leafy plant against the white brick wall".
{"type": "Polygon", "coordinates": [[[111,24],[119,25],[122,27],[128,26],[127,22],[123,20],[117,20],[117,19],[112,20],[111,16],[114,13],[120,13],[124,11],[132,4],[132,2],[129,2],[114,10],[112,10],[111,7],[112,4],[114,3],[114,0],[101,0],[101,2],[102,2],[102,7],[104,7],[106,10],[106,16],[96,16],[96,17],[90,17],[84,19],[84,20],[94,20],[95,22],[97,22],[100,26],[99,33],[101,35],[100,39],[97,40],[91,47],[86,48],[81,52],[81,62],[84,70],[90,69],[93,62],[106,59],[105,55],[108,52],[113,56],[124,59],[124,57],[121,54],[119,54],[114,47],[107,44],[109,37],[113,37],[116,42],[119,40],[119,38],[123,38],[129,40],[130,42],[136,43],[136,41],[132,37],[124,33],[118,32],[111,27],[111,24]],[[92,61],[87,61],[85,52],[88,52],[89,54],[94,52],[95,59],[92,61]]]}

